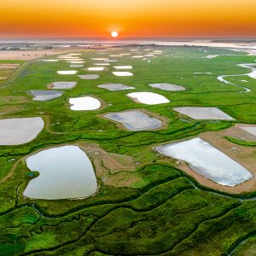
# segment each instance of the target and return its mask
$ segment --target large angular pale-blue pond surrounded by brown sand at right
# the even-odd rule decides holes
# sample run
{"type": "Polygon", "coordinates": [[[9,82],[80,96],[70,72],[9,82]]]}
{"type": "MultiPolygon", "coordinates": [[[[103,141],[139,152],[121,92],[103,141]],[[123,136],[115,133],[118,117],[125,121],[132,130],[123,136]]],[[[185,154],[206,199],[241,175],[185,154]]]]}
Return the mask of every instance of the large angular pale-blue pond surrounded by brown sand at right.
{"type": "Polygon", "coordinates": [[[195,172],[221,185],[233,187],[253,177],[235,160],[199,137],[155,149],[160,154],[186,161],[195,172]]]}

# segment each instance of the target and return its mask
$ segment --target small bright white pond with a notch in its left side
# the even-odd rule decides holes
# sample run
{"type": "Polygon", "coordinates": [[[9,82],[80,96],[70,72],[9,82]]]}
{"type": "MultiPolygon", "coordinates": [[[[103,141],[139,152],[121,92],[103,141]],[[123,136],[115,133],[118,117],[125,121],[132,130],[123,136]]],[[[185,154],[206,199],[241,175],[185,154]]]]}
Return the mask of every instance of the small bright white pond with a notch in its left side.
{"type": "Polygon", "coordinates": [[[98,99],[91,96],[70,98],[69,103],[72,110],[95,110],[102,106],[98,99]]]}

